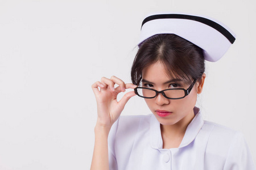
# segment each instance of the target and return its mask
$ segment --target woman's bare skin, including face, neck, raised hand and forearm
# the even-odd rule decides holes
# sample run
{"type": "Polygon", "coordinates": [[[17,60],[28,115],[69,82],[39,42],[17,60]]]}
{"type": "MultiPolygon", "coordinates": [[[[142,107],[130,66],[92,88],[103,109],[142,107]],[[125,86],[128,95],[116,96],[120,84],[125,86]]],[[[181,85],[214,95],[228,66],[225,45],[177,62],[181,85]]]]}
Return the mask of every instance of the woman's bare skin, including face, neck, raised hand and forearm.
{"type": "MultiPolygon", "coordinates": [[[[170,87],[174,87],[174,84],[170,86],[170,78],[167,76],[164,66],[160,62],[156,62],[142,71],[143,79],[151,82],[150,88],[161,91],[170,87]]],[[[197,94],[200,94],[203,90],[205,74],[201,80],[195,84],[191,93],[184,99],[170,100],[165,98],[162,94],[158,94],[154,99],[146,99],[146,103],[151,112],[156,116],[161,125],[163,148],[171,148],[179,146],[183,139],[185,129],[189,122],[194,117],[193,107],[196,104],[197,94]],[[156,114],[156,110],[165,110],[172,112],[170,116],[159,117],[156,114]],[[170,138],[170,136],[172,138],[170,138]]],[[[182,88],[187,89],[189,84],[183,83],[182,88]]],[[[92,159],[92,169],[109,169],[108,158],[108,135],[110,128],[114,122],[118,119],[127,101],[135,96],[134,91],[127,92],[120,101],[117,101],[117,95],[121,92],[125,92],[126,89],[134,89],[137,86],[130,83],[124,83],[121,79],[112,76],[108,79],[103,77],[101,81],[98,81],[92,85],[92,90],[96,96],[97,101],[97,123],[94,128],[95,143],[92,159]],[[118,87],[114,88],[117,84],[118,87]]]]}

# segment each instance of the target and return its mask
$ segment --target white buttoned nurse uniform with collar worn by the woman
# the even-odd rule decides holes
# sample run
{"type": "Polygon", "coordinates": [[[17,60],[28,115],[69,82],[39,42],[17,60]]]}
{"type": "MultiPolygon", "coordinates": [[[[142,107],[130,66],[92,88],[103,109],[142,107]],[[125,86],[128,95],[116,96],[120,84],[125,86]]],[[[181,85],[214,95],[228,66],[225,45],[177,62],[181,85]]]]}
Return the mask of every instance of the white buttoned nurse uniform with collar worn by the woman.
{"type": "Polygon", "coordinates": [[[109,133],[110,169],[255,169],[243,135],[204,121],[198,108],[178,148],[163,149],[153,114],[121,116],[109,133]]]}

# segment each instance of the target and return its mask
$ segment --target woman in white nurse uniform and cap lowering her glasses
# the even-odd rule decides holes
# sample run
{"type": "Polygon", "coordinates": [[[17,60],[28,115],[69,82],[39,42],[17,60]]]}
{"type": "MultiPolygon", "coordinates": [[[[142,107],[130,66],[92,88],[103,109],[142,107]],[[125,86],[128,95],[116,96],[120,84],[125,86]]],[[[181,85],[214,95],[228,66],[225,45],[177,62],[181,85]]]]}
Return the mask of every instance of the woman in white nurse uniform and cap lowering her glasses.
{"type": "Polygon", "coordinates": [[[98,118],[91,169],[255,169],[243,135],[204,121],[195,107],[205,60],[217,61],[235,40],[225,25],[202,16],[145,18],[133,83],[112,76],[92,85],[98,118]],[[152,114],[119,117],[135,95],[152,114]]]}

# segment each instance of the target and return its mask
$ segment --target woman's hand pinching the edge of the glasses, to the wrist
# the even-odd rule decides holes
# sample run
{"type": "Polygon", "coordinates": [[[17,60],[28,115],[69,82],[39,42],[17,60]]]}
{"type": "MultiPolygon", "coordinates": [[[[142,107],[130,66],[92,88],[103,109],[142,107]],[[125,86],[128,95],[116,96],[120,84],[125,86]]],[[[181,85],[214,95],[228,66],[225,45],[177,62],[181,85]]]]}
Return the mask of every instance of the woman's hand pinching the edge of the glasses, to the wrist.
{"type": "Polygon", "coordinates": [[[115,76],[110,79],[103,77],[101,82],[94,83],[92,89],[97,101],[97,125],[110,128],[120,116],[127,101],[135,96],[135,93],[134,91],[127,92],[120,101],[117,101],[117,95],[125,92],[127,88],[134,89],[135,87],[137,86],[131,83],[125,84],[115,76]],[[119,86],[114,88],[115,84],[119,86]]]}

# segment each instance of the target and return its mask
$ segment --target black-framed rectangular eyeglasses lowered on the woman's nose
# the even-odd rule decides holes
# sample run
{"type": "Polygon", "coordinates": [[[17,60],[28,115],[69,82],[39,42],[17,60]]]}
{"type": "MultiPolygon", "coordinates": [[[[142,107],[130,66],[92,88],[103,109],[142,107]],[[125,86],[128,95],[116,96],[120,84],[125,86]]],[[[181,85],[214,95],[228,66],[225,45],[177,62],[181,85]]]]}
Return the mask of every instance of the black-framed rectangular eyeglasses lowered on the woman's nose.
{"type": "Polygon", "coordinates": [[[162,91],[157,91],[152,88],[137,87],[137,88],[134,88],[134,92],[139,97],[143,97],[146,99],[153,99],[158,94],[162,94],[167,99],[183,99],[185,96],[189,95],[195,83],[196,83],[196,79],[187,88],[187,90],[185,90],[184,88],[170,88],[162,91]]]}

